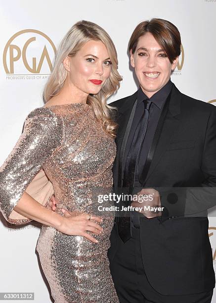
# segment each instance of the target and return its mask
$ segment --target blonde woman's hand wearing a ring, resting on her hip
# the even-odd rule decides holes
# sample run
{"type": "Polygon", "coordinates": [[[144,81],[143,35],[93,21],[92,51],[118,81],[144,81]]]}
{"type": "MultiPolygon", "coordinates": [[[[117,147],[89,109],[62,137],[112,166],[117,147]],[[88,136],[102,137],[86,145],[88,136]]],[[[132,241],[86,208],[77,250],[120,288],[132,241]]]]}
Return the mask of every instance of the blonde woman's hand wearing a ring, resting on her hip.
{"type": "Polygon", "coordinates": [[[66,235],[82,236],[94,243],[98,243],[95,238],[86,233],[86,231],[91,231],[98,235],[102,233],[103,228],[93,221],[102,222],[103,219],[92,214],[90,215],[90,220],[89,214],[76,214],[74,216],[62,217],[62,224],[58,230],[66,235]]]}

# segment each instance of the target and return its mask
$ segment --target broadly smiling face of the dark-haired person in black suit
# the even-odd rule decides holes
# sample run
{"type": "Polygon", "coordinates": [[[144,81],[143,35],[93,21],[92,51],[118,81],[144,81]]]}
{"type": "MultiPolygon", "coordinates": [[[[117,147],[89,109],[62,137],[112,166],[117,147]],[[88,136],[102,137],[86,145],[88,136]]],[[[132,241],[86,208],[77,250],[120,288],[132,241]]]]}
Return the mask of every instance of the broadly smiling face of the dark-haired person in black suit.
{"type": "Polygon", "coordinates": [[[130,51],[130,62],[142,91],[151,98],[170,80],[178,57],[171,63],[154,36],[146,33],[139,38],[134,53],[130,51]]]}

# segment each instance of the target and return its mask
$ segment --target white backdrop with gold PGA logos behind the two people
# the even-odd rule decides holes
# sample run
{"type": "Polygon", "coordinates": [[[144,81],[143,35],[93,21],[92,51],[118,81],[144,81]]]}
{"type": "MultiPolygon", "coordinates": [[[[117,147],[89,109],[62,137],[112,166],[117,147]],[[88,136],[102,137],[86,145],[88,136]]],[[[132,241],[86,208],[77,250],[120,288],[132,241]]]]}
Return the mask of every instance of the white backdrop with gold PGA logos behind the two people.
{"type": "MultiPolygon", "coordinates": [[[[139,22],[154,17],[173,22],[181,33],[174,84],[182,93],[216,105],[216,0],[0,0],[0,165],[28,113],[43,106],[55,51],[74,23],[97,23],[116,45],[123,82],[112,102],[137,89],[128,42],[139,22]]],[[[34,293],[35,303],[52,302],[36,253],[39,233],[38,223],[17,228],[0,214],[0,292],[34,293]]],[[[209,237],[216,269],[214,211],[209,212],[209,237]]]]}

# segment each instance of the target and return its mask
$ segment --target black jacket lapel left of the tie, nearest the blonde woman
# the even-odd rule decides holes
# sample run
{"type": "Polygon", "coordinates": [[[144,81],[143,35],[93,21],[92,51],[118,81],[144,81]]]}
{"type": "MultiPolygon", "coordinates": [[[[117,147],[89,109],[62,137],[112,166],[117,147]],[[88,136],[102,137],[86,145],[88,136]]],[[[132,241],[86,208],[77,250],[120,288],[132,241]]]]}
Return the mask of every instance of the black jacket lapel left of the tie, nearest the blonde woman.
{"type": "MultiPolygon", "coordinates": [[[[136,101],[137,92],[132,96],[128,97],[124,104],[118,109],[119,117],[117,123],[119,127],[117,129],[117,137],[116,137],[116,158],[113,167],[113,177],[114,177],[114,185],[121,187],[122,186],[122,161],[125,152],[125,147],[128,139],[128,131],[129,130],[129,122],[131,122],[131,111],[134,108],[134,103],[136,101]],[[130,121],[129,121],[130,120],[130,121]],[[126,138],[127,137],[127,138],[126,138]],[[124,144],[123,144],[124,140],[124,144]]],[[[134,115],[134,113],[133,113],[134,115]]],[[[130,125],[131,127],[131,125],[130,125]]],[[[130,131],[130,130],[129,130],[130,131]]]]}

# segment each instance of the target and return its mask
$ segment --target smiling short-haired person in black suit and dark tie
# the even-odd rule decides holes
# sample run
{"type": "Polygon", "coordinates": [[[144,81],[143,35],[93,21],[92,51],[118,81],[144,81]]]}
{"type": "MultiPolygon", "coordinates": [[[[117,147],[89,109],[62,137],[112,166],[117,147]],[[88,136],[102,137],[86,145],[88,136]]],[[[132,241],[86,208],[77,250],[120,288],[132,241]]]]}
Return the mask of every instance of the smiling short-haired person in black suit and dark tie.
{"type": "Polygon", "coordinates": [[[171,22],[140,23],[129,43],[140,87],[112,103],[115,192],[164,207],[116,218],[108,256],[121,303],[210,303],[215,287],[206,210],[216,204],[216,107],[171,82],[180,46],[171,22]]]}

